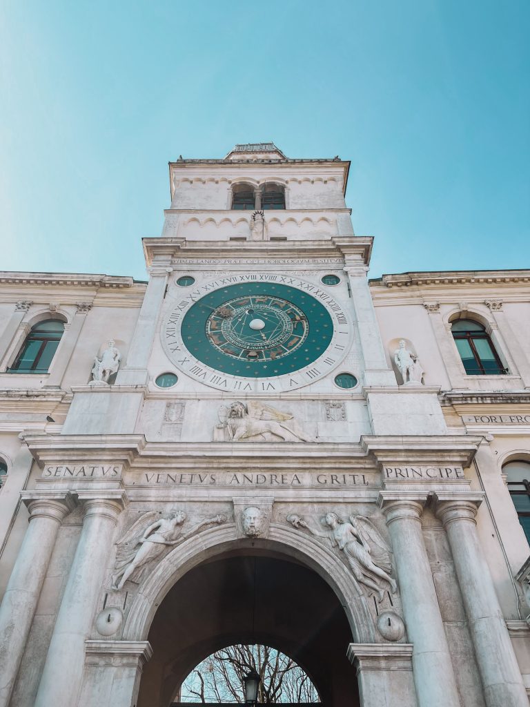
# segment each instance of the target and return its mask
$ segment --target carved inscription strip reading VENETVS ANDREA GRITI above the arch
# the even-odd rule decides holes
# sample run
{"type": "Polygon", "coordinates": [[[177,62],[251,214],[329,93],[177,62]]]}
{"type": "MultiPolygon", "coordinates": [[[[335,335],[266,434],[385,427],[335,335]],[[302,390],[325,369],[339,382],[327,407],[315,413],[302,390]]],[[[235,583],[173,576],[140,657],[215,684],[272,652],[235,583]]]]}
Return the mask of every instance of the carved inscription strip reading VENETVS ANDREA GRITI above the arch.
{"type": "Polygon", "coordinates": [[[169,486],[333,486],[334,488],[348,486],[379,485],[375,474],[255,474],[254,472],[215,472],[199,473],[149,473],[144,472],[140,484],[155,484],[169,486]]]}

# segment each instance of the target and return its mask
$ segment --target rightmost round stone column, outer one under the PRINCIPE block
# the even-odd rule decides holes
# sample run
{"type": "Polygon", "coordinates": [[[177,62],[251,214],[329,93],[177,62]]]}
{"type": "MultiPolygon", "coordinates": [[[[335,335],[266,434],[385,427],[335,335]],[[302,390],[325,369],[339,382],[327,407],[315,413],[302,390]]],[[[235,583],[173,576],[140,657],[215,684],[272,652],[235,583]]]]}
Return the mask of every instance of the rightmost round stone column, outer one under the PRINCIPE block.
{"type": "Polygon", "coordinates": [[[482,554],[475,515],[483,493],[437,493],[488,707],[528,707],[510,634],[482,554]]]}

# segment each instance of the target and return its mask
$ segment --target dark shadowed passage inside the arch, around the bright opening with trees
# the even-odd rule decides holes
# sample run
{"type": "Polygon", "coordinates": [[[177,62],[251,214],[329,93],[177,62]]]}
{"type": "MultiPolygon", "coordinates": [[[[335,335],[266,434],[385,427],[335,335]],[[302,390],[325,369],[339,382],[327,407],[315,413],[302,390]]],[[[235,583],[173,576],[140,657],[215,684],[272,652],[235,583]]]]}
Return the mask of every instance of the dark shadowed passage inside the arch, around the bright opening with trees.
{"type": "Polygon", "coordinates": [[[160,602],[148,640],[138,707],[169,707],[196,665],[238,643],[293,658],[326,707],[359,705],[341,602],[317,572],[281,554],[240,549],[195,566],[160,602]]]}

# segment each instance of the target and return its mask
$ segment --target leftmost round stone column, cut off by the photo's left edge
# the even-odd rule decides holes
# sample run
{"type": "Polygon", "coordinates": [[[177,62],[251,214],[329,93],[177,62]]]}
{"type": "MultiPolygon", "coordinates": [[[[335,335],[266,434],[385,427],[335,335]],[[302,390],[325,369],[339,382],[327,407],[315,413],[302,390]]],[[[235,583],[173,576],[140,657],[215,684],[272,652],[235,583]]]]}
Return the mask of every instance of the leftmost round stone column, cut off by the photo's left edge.
{"type": "Polygon", "coordinates": [[[24,491],[21,496],[30,525],[0,607],[0,707],[11,697],[59,525],[75,505],[68,491],[24,491]]]}

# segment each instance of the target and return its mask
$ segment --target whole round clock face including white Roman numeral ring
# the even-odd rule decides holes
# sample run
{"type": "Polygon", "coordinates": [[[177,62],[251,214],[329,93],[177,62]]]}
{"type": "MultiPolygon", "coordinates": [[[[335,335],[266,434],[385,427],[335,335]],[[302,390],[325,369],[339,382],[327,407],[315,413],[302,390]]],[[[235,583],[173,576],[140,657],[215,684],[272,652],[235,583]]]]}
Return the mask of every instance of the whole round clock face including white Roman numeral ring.
{"type": "Polygon", "coordinates": [[[322,288],[285,276],[262,277],[199,286],[179,303],[163,329],[173,363],[223,390],[293,390],[329,373],[346,354],[342,309],[322,288]]]}

